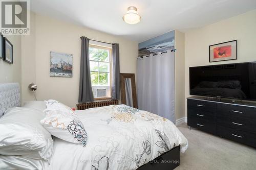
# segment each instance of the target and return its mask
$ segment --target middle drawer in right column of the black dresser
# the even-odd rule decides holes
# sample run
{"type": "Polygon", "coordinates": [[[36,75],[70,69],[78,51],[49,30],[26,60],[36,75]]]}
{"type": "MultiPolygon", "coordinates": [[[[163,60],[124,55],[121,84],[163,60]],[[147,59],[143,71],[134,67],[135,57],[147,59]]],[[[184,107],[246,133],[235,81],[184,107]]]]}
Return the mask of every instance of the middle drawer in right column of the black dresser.
{"type": "Polygon", "coordinates": [[[218,115],[217,124],[256,134],[256,125],[253,119],[240,118],[232,115],[218,115]]]}

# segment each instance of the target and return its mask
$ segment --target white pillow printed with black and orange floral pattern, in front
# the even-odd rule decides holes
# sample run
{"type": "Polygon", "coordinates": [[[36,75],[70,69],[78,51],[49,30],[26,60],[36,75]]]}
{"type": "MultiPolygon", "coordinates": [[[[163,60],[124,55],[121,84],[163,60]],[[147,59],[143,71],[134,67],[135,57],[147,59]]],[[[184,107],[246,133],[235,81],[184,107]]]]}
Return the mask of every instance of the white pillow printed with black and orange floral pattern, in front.
{"type": "Polygon", "coordinates": [[[46,117],[40,122],[53,136],[86,147],[87,133],[81,121],[70,113],[61,110],[45,110],[46,117]]]}

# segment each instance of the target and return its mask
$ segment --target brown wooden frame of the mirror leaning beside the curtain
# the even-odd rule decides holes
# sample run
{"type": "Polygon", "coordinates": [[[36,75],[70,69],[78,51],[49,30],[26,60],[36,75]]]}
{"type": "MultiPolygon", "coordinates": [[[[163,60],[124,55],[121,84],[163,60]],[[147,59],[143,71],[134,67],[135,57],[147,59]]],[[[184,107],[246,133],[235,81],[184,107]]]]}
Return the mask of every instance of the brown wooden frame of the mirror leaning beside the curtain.
{"type": "Polygon", "coordinates": [[[135,75],[132,73],[120,73],[120,87],[121,87],[121,103],[126,105],[125,83],[124,79],[131,79],[132,93],[133,93],[133,107],[138,108],[135,75]]]}

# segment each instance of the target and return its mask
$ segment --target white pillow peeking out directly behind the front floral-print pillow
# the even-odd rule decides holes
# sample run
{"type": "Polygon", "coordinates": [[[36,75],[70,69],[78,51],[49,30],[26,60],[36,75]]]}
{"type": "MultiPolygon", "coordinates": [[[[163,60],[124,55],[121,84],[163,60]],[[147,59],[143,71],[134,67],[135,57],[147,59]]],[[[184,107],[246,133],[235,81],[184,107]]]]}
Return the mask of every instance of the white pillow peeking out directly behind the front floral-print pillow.
{"type": "Polygon", "coordinates": [[[58,101],[48,100],[45,102],[46,102],[47,110],[61,110],[62,112],[65,112],[65,113],[74,114],[74,110],[72,110],[70,107],[68,107],[58,101]]]}

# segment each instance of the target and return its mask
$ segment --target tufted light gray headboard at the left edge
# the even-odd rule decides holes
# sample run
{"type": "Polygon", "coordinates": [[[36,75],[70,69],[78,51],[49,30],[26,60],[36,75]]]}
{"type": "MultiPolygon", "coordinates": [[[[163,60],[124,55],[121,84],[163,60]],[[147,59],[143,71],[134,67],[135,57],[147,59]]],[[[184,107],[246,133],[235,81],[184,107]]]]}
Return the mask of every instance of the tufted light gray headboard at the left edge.
{"type": "Polygon", "coordinates": [[[18,83],[0,84],[0,117],[7,108],[20,106],[20,93],[18,83]]]}

